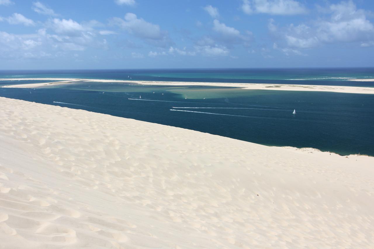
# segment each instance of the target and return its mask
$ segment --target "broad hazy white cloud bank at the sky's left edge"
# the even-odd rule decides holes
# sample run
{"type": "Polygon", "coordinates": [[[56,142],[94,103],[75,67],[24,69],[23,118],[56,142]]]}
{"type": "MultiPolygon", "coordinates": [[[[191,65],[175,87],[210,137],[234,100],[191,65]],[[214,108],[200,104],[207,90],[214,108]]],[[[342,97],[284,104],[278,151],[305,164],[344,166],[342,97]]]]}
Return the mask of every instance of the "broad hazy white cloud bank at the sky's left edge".
{"type": "MultiPolygon", "coordinates": [[[[13,16],[12,16],[13,17],[13,16]]],[[[15,18],[17,15],[15,15],[15,18]]],[[[23,18],[10,19],[11,22],[22,22],[23,18]]],[[[6,21],[9,21],[6,18],[6,21]]],[[[92,24],[93,22],[87,22],[92,24]]],[[[83,51],[87,48],[108,49],[107,40],[97,39],[98,31],[79,24],[71,19],[50,19],[46,28],[39,28],[32,34],[11,34],[0,32],[0,58],[47,58],[65,56],[71,51],[83,51]],[[53,33],[48,33],[53,32],[53,33]]],[[[73,53],[71,53],[73,54],[73,53]]]]}

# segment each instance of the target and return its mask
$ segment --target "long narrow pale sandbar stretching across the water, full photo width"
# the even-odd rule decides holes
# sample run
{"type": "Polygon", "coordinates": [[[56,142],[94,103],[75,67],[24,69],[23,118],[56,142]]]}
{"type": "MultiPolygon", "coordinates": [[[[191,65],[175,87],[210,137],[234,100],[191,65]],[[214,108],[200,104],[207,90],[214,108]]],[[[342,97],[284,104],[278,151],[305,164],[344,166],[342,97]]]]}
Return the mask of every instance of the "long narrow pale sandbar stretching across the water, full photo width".
{"type": "MultiPolygon", "coordinates": [[[[0,79],[13,80],[13,79],[0,79]]],[[[159,81],[138,81],[138,80],[98,80],[98,79],[54,79],[54,78],[23,78],[16,80],[59,80],[50,83],[31,83],[9,85],[3,87],[11,88],[36,88],[52,84],[68,84],[76,82],[121,82],[143,85],[167,85],[167,86],[221,86],[221,87],[242,87],[249,90],[285,90],[285,91],[318,91],[318,92],[341,92],[341,93],[364,93],[374,94],[374,87],[356,86],[318,86],[318,85],[294,85],[294,84],[261,84],[261,83],[217,83],[217,82],[159,82],[159,81]]]]}

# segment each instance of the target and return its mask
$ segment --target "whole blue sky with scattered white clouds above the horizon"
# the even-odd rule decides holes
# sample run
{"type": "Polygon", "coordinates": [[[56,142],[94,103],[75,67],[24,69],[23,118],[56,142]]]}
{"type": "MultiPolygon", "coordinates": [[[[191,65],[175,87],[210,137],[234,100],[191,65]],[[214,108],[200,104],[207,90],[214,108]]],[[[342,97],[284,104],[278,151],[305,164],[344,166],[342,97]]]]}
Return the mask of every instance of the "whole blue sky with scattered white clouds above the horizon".
{"type": "Polygon", "coordinates": [[[0,0],[0,70],[374,67],[374,1],[0,0]]]}

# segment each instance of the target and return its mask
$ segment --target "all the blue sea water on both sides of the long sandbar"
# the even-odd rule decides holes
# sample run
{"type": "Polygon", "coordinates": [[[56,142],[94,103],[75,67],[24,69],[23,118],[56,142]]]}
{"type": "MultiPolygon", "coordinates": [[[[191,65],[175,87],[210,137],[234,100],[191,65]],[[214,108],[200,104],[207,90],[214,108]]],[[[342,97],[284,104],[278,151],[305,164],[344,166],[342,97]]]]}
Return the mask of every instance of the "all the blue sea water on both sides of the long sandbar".
{"type": "MultiPolygon", "coordinates": [[[[347,80],[372,79],[374,68],[0,71],[0,78],[47,77],[374,87],[374,82],[347,80]]],[[[36,83],[0,84],[31,82],[36,83]]],[[[0,96],[264,145],[374,156],[374,96],[368,94],[90,82],[36,89],[0,88],[0,96]],[[294,109],[296,114],[292,114],[294,109]]]]}

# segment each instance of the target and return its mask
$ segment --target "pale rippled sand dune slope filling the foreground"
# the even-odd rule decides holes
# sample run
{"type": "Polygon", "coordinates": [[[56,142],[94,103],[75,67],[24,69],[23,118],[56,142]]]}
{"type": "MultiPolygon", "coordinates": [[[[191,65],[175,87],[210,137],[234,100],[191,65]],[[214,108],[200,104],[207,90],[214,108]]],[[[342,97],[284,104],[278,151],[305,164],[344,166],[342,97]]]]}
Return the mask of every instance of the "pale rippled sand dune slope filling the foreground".
{"type": "Polygon", "coordinates": [[[0,248],[373,248],[374,158],[0,98],[0,248]]]}

